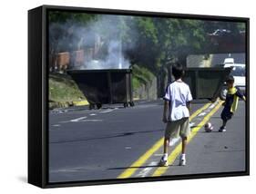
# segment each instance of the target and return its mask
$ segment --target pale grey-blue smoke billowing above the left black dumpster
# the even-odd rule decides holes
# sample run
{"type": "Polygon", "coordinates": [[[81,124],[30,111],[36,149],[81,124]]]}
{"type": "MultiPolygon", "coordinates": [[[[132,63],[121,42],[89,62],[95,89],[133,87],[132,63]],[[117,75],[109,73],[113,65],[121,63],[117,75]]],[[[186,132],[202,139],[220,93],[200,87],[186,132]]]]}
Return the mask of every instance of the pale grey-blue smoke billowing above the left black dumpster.
{"type": "MultiPolygon", "coordinates": [[[[97,15],[87,24],[68,20],[49,25],[49,53],[69,53],[68,69],[128,69],[125,57],[131,42],[124,41],[127,33],[136,34],[128,27],[131,16],[97,15]]],[[[135,37],[134,37],[135,39],[135,37]]]]}

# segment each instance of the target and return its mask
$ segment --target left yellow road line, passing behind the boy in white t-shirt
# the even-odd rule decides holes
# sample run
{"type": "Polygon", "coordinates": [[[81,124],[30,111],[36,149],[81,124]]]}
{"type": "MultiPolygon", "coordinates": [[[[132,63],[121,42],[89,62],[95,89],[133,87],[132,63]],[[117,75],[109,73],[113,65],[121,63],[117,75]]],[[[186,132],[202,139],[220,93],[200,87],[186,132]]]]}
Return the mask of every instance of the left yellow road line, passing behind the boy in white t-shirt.
{"type": "MultiPolygon", "coordinates": [[[[196,112],[193,112],[193,114],[189,117],[190,121],[195,118],[200,112],[207,109],[210,106],[210,102],[206,103],[203,107],[201,107],[196,112]]],[[[124,170],[119,176],[118,179],[125,179],[129,178],[134,174],[136,170],[138,170],[139,167],[141,167],[149,158],[150,156],[159,150],[159,148],[163,145],[164,138],[161,138],[159,141],[157,141],[149,150],[147,150],[141,157],[138,158],[134,163],[131,164],[130,167],[128,167],[127,170],[124,170]]]]}

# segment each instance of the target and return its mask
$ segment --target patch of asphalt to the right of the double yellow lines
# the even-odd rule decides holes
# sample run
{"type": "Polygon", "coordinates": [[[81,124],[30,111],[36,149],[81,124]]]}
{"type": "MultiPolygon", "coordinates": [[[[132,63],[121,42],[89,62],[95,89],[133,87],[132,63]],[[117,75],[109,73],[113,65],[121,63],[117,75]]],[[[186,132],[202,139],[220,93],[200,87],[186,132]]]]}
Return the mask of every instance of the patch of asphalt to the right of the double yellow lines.
{"type": "Polygon", "coordinates": [[[178,160],[176,160],[167,174],[245,170],[245,103],[240,101],[238,111],[235,112],[232,120],[228,121],[226,132],[218,132],[221,111],[222,108],[210,118],[215,130],[210,133],[201,130],[189,143],[187,166],[175,168],[178,165],[178,160]]]}

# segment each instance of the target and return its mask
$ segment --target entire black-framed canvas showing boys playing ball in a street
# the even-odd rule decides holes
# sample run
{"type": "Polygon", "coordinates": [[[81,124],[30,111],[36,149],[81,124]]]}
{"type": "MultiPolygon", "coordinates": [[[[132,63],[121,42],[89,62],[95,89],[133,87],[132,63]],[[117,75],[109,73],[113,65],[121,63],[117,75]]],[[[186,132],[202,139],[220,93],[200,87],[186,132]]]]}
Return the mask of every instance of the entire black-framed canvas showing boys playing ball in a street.
{"type": "Polygon", "coordinates": [[[28,182],[249,175],[249,18],[28,11],[28,182]]]}

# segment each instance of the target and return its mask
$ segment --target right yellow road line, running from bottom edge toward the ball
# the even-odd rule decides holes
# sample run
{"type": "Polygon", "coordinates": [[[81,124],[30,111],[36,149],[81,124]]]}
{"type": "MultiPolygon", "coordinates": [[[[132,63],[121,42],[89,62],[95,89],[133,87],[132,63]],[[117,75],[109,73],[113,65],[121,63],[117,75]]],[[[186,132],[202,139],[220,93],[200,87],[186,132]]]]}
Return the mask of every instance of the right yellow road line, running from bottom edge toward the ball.
{"type": "MultiPolygon", "coordinates": [[[[189,138],[188,138],[188,143],[189,143],[189,141],[191,141],[191,140],[193,139],[193,137],[198,133],[198,131],[200,131],[200,128],[201,128],[202,126],[204,126],[207,121],[210,120],[210,117],[211,117],[215,112],[217,112],[217,111],[220,109],[221,103],[222,103],[222,102],[220,101],[220,102],[218,103],[218,105],[215,106],[215,108],[212,109],[212,111],[211,111],[208,115],[206,115],[202,121],[200,121],[200,123],[198,124],[198,126],[195,127],[195,128],[193,129],[193,131],[191,131],[191,134],[190,134],[190,136],[189,136],[189,138]]],[[[179,156],[179,154],[180,154],[180,152],[181,152],[181,148],[182,148],[182,144],[181,144],[181,142],[180,142],[179,145],[171,152],[171,154],[170,154],[169,157],[168,157],[169,165],[171,165],[171,164],[174,162],[174,160],[176,160],[176,158],[179,156]]],[[[162,174],[164,174],[164,173],[166,172],[166,170],[168,170],[168,168],[169,168],[169,167],[159,167],[157,170],[155,170],[155,172],[153,173],[152,177],[159,177],[159,176],[161,176],[162,174]]]]}

